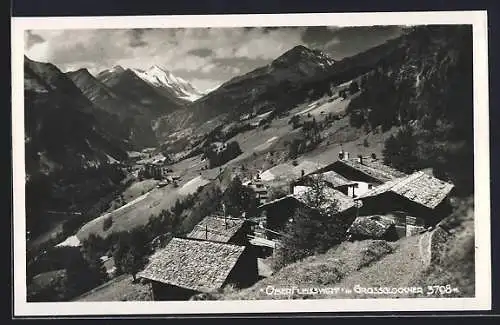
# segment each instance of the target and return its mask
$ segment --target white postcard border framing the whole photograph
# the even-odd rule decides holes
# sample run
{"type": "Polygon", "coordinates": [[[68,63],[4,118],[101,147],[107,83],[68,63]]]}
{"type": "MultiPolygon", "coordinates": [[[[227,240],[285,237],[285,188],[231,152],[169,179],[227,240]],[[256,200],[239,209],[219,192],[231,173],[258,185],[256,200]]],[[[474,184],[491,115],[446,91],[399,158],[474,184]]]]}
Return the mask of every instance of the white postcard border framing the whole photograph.
{"type": "Polygon", "coordinates": [[[264,15],[13,17],[12,153],[14,316],[99,316],[130,314],[220,314],[370,311],[458,311],[491,309],[490,158],[488,28],[486,11],[320,13],[264,15]],[[186,302],[26,301],[24,191],[24,31],[29,29],[188,28],[247,26],[371,26],[472,24],[475,132],[475,298],[324,299],[186,302]]]}

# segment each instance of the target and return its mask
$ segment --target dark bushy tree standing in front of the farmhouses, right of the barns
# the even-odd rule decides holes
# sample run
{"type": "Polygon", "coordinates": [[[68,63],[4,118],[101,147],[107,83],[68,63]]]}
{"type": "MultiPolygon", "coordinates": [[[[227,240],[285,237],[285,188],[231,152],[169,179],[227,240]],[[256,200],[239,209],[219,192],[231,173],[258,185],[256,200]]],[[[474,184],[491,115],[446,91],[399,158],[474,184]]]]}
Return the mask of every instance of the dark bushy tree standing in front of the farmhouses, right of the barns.
{"type": "Polygon", "coordinates": [[[306,192],[307,207],[299,207],[285,226],[273,268],[280,269],[307,256],[321,254],[344,241],[351,218],[338,214],[337,201],[325,195],[322,177],[314,178],[306,192]],[[335,215],[335,216],[334,216],[335,215]]]}

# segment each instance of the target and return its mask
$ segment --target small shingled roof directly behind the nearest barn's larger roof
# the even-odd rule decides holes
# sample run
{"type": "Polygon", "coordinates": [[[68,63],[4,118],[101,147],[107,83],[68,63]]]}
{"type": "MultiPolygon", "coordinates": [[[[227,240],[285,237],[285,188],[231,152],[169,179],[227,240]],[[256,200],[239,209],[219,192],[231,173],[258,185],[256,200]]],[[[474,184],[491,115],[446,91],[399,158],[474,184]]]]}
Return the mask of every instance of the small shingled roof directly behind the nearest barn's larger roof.
{"type": "Polygon", "coordinates": [[[200,221],[186,237],[227,243],[244,223],[245,219],[208,216],[200,221]]]}

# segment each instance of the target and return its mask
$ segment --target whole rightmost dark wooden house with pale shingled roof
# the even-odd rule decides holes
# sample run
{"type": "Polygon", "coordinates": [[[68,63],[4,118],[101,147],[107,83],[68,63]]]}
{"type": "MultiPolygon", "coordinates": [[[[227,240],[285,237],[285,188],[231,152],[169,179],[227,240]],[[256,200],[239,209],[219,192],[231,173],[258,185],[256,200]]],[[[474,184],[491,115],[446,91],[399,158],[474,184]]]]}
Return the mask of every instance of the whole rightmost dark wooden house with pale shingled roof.
{"type": "Polygon", "coordinates": [[[448,196],[453,184],[422,171],[394,179],[358,197],[363,203],[360,215],[406,212],[408,216],[432,226],[446,217],[451,208],[448,196]]]}

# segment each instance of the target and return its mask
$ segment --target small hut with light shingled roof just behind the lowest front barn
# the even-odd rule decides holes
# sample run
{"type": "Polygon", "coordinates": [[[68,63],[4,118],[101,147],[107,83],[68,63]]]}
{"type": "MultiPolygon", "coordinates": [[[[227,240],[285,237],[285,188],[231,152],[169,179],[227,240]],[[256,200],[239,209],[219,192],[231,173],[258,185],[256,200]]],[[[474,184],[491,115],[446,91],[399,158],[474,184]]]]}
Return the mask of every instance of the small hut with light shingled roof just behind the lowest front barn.
{"type": "Polygon", "coordinates": [[[241,218],[208,216],[187,234],[187,238],[246,246],[250,223],[241,218]]]}

